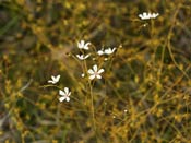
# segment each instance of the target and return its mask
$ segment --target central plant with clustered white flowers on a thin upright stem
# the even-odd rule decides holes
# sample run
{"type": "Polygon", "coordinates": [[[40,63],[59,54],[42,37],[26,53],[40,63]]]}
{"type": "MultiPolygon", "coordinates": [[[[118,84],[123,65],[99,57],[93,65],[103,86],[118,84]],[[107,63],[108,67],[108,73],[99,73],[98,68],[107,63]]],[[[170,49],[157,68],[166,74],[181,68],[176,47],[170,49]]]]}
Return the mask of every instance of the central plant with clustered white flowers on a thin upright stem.
{"type": "Polygon", "coordinates": [[[94,108],[94,84],[96,80],[103,79],[103,74],[106,71],[104,64],[106,61],[112,59],[112,53],[117,50],[117,48],[106,48],[105,50],[102,48],[97,50],[97,48],[89,41],[85,43],[85,40],[77,41],[77,48],[80,53],[69,53],[73,59],[82,68],[81,78],[85,79],[89,88],[89,97],[91,97],[91,112],[92,112],[92,121],[94,131],[96,131],[96,117],[95,117],[95,108],[94,108]],[[102,51],[102,55],[99,52],[102,51]]]}

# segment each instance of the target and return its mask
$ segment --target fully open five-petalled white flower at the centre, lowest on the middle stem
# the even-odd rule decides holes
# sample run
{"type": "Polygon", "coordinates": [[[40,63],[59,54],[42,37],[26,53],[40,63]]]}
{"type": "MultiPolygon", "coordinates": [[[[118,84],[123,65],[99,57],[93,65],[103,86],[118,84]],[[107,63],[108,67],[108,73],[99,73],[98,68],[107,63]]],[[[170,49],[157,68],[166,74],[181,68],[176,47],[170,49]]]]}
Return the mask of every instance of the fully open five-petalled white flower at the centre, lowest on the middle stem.
{"type": "Polygon", "coordinates": [[[95,65],[93,65],[93,70],[92,69],[88,70],[88,73],[91,74],[89,79],[91,80],[93,80],[95,78],[102,79],[100,73],[103,73],[103,72],[104,72],[104,69],[98,70],[97,65],[95,64],[95,65]]]}

